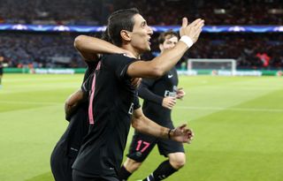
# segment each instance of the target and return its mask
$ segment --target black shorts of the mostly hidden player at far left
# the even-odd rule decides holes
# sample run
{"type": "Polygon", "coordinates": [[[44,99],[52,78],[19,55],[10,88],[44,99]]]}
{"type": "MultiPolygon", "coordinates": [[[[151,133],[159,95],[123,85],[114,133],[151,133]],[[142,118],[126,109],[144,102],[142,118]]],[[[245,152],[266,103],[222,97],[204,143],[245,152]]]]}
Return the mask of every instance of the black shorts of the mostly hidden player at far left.
{"type": "Polygon", "coordinates": [[[72,165],[75,157],[68,156],[64,147],[57,145],[51,155],[51,170],[56,181],[72,181],[72,165]]]}

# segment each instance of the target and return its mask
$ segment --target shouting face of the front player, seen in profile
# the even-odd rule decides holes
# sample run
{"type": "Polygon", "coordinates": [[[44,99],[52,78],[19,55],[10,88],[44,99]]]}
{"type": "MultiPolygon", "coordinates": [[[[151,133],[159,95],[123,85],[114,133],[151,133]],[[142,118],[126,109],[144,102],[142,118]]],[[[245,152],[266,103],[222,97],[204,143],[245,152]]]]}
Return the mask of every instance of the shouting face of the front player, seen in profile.
{"type": "Polygon", "coordinates": [[[139,53],[150,51],[150,38],[153,34],[147,21],[142,18],[141,14],[134,15],[134,28],[131,32],[131,45],[139,53]]]}

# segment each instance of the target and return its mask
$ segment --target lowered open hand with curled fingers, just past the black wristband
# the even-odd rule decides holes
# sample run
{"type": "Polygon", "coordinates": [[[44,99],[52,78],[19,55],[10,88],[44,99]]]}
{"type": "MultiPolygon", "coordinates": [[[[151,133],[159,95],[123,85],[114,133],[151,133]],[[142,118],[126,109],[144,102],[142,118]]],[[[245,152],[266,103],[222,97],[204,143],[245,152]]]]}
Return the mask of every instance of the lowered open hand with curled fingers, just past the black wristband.
{"type": "Polygon", "coordinates": [[[170,132],[170,139],[182,143],[190,143],[194,138],[194,132],[186,127],[187,124],[182,124],[170,132]]]}

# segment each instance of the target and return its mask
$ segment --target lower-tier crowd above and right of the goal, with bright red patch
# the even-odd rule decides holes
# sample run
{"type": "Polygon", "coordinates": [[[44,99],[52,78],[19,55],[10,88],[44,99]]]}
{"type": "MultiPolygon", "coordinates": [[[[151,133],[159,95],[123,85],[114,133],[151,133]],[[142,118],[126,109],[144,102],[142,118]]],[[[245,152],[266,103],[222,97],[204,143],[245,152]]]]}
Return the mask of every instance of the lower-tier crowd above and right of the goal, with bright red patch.
{"type": "Polygon", "coordinates": [[[202,34],[191,58],[233,58],[239,69],[282,69],[283,34],[202,34]]]}

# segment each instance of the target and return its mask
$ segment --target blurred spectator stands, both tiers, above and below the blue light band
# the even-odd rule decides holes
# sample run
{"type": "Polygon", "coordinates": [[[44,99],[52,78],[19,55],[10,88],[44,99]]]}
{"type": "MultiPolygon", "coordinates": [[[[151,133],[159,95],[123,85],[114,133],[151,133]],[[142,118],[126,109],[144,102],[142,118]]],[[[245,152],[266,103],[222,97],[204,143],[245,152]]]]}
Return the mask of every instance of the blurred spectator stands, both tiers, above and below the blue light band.
{"type": "MultiPolygon", "coordinates": [[[[180,19],[203,18],[206,25],[283,25],[282,0],[0,0],[0,25],[105,25],[112,11],[137,7],[150,26],[180,25],[180,19]]],[[[0,56],[11,67],[82,67],[73,49],[77,33],[0,31],[0,56]]],[[[93,35],[93,34],[92,34],[93,35]]],[[[99,36],[99,33],[96,34],[99,36]]],[[[153,53],[157,49],[153,37],[153,53]]],[[[202,34],[184,57],[234,58],[241,69],[282,69],[283,34],[202,34]]],[[[152,57],[147,54],[146,57],[152,57]]]]}

